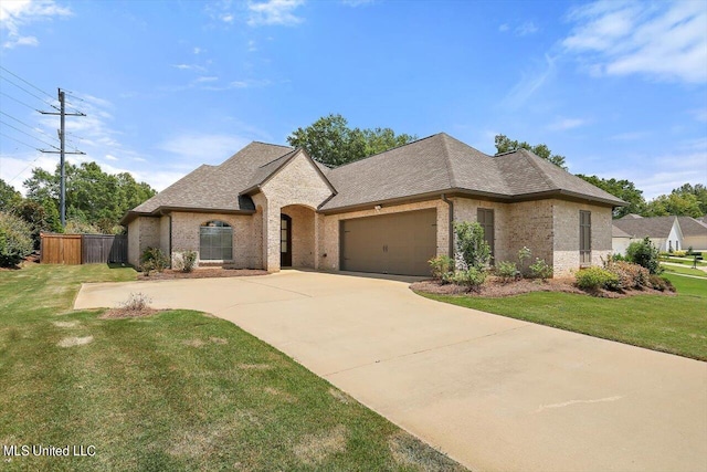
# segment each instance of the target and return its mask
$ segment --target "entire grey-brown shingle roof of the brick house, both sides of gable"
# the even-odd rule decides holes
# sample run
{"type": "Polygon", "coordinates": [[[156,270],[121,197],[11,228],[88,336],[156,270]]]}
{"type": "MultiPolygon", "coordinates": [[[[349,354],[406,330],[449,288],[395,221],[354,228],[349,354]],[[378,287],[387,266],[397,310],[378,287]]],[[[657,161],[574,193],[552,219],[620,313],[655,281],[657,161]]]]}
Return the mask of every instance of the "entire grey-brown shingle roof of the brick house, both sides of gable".
{"type": "MultiPolygon", "coordinates": [[[[251,143],[220,166],[201,166],[131,210],[253,210],[244,193],[255,191],[296,149],[251,143]]],[[[614,196],[525,149],[488,156],[440,133],[334,169],[316,162],[336,195],[321,210],[409,199],[442,192],[468,192],[513,201],[549,195],[621,206],[614,196]]]]}

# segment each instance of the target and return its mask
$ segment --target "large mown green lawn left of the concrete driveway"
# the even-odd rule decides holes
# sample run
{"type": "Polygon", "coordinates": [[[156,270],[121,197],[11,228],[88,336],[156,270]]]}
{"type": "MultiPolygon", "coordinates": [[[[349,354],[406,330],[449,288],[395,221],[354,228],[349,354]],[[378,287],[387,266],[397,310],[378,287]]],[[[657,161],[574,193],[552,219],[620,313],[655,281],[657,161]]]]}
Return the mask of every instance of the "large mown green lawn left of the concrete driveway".
{"type": "Polygon", "coordinates": [[[105,265],[0,272],[0,444],[95,447],[3,457],[3,470],[461,470],[223,319],[70,310],[81,282],[134,279],[105,265]]]}

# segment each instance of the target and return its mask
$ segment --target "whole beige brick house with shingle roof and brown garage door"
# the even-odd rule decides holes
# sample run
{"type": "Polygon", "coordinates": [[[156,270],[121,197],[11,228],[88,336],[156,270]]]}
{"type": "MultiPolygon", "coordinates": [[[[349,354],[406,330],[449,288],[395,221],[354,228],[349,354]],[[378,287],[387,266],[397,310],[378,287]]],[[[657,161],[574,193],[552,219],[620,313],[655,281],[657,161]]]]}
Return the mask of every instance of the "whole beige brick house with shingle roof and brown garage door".
{"type": "Polygon", "coordinates": [[[622,200],[530,151],[488,156],[442,133],[334,169],[305,150],[252,143],[129,211],[129,259],[148,247],[199,263],[429,274],[478,221],[496,261],[528,247],[556,274],[611,252],[622,200]]]}

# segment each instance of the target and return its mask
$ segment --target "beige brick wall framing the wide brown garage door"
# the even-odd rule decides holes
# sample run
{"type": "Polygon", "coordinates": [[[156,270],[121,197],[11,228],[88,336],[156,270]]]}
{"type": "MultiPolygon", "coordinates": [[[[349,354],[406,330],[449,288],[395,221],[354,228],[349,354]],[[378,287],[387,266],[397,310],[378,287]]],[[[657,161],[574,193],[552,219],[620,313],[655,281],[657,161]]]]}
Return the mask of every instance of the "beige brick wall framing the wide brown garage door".
{"type": "Polygon", "coordinates": [[[436,208],[437,210],[437,255],[449,252],[449,207],[439,200],[421,201],[416,203],[405,203],[395,206],[383,206],[380,210],[373,208],[369,210],[349,211],[346,213],[327,214],[320,219],[318,224],[318,238],[320,241],[318,252],[317,269],[327,271],[339,270],[339,221],[351,218],[373,217],[377,214],[389,214],[401,211],[423,210],[436,208]],[[326,255],[325,255],[326,254],[326,255]]]}

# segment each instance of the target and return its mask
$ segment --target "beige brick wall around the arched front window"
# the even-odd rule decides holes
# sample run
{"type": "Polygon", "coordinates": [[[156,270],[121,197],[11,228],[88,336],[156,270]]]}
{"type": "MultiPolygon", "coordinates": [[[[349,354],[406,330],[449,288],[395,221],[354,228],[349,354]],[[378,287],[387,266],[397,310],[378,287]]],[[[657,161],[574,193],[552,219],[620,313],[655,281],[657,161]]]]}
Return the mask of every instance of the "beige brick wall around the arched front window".
{"type": "Polygon", "coordinates": [[[224,261],[236,268],[253,268],[255,259],[253,217],[250,214],[172,212],[172,252],[199,252],[199,229],[203,223],[219,220],[233,228],[233,260],[224,261]]]}

